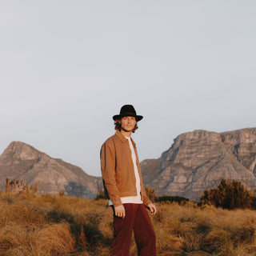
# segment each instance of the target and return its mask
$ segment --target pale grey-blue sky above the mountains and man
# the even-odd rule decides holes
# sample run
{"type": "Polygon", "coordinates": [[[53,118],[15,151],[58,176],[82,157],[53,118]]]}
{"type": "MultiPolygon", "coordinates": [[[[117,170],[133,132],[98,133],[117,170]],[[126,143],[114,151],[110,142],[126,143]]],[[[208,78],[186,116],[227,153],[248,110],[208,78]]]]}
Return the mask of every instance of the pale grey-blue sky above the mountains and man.
{"type": "Polygon", "coordinates": [[[0,154],[21,141],[101,176],[132,104],[140,161],[179,134],[256,127],[254,0],[0,0],[0,154]]]}

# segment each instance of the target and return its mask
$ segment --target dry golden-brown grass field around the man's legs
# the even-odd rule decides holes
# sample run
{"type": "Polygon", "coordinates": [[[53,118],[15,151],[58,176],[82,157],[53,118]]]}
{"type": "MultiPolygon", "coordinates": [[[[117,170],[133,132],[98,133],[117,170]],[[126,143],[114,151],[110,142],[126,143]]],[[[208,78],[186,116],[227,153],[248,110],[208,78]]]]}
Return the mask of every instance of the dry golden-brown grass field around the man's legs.
{"type": "MultiPolygon", "coordinates": [[[[0,212],[2,256],[110,255],[113,217],[104,200],[0,192],[0,212]]],[[[158,255],[256,256],[256,211],[172,203],[150,218],[158,255]]]]}

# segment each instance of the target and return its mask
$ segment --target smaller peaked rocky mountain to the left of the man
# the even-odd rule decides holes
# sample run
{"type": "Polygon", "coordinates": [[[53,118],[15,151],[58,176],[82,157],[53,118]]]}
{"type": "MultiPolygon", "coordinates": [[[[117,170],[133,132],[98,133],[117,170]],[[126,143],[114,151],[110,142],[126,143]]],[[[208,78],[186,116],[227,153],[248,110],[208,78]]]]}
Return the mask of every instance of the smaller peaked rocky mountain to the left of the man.
{"type": "Polygon", "coordinates": [[[0,190],[6,189],[6,178],[38,184],[42,194],[58,194],[94,198],[102,186],[102,178],[86,174],[78,166],[50,158],[33,146],[11,142],[0,156],[0,190]]]}

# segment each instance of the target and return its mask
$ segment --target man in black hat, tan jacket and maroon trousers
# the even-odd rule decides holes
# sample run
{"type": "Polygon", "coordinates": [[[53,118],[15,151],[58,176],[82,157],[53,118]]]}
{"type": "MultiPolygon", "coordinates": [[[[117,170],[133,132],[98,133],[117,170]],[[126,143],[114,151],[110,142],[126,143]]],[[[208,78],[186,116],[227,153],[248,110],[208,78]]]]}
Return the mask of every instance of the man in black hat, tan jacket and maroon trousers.
{"type": "Polygon", "coordinates": [[[129,255],[133,230],[138,255],[155,256],[155,234],[146,207],[151,214],[157,210],[146,196],[136,146],[130,138],[142,118],[134,106],[122,106],[113,117],[116,132],[101,149],[103,184],[114,209],[112,256],[129,255]]]}

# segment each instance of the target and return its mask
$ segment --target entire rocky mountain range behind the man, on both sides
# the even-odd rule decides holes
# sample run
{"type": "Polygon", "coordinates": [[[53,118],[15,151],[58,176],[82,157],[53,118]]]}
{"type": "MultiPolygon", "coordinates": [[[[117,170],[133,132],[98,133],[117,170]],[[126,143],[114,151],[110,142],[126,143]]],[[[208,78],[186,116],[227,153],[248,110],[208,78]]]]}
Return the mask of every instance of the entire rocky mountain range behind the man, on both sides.
{"type": "MultiPolygon", "coordinates": [[[[143,160],[141,168],[144,185],[154,187],[158,195],[198,200],[222,178],[256,192],[256,128],[179,134],[160,158],[143,160]]],[[[37,183],[42,194],[65,190],[66,195],[95,198],[102,187],[101,177],[24,142],[11,142],[0,155],[0,190],[5,190],[6,178],[37,183]]]]}

